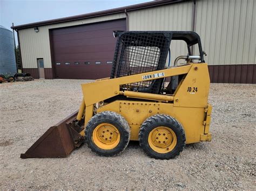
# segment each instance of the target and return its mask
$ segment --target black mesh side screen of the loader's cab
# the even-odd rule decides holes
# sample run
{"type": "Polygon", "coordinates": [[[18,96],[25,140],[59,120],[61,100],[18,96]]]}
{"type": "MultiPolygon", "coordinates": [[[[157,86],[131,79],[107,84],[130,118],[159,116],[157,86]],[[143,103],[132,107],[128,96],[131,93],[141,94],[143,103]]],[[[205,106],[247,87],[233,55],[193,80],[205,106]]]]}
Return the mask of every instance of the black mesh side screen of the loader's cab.
{"type": "MultiPolygon", "coordinates": [[[[164,69],[170,37],[164,32],[132,32],[119,35],[111,78],[164,69]]],[[[124,84],[121,89],[158,94],[163,79],[124,84]]]]}

